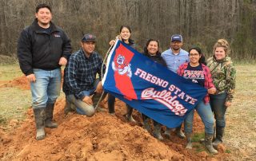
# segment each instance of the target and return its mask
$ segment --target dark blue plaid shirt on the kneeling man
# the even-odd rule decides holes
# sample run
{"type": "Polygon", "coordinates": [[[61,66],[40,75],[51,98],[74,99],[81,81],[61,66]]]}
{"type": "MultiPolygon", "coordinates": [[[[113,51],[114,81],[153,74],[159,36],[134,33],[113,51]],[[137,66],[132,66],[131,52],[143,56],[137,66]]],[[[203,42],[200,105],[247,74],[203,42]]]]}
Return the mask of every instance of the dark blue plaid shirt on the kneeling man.
{"type": "Polygon", "coordinates": [[[90,57],[86,57],[82,49],[71,54],[64,72],[63,92],[66,95],[74,94],[77,99],[82,100],[82,91],[94,88],[97,73],[100,81],[102,80],[102,73],[106,70],[106,65],[102,69],[102,64],[102,57],[97,52],[91,53],[90,57]]]}

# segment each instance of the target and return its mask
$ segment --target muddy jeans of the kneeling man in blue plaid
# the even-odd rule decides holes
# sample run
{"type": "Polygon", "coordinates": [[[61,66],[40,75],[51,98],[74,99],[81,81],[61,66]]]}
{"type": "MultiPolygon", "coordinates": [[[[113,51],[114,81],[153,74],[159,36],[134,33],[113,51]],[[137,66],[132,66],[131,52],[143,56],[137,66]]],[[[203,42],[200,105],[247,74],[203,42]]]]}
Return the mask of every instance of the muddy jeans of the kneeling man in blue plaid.
{"type": "MultiPolygon", "coordinates": [[[[82,91],[84,96],[91,96],[94,95],[92,97],[93,100],[93,105],[92,104],[86,104],[85,102],[83,102],[82,100],[78,100],[75,98],[75,96],[73,94],[71,95],[67,95],[66,96],[66,100],[68,100],[71,104],[74,104],[76,107],[76,111],[78,112],[78,114],[81,115],[86,115],[86,116],[93,116],[94,112],[95,112],[95,107],[101,97],[102,94],[98,94],[96,92],[94,92],[97,88],[99,80],[96,79],[96,81],[94,82],[94,88],[87,90],[87,91],[82,91]]],[[[102,100],[105,98],[106,93],[103,94],[102,96],[102,100]]],[[[100,101],[102,101],[100,100],[100,101]]]]}

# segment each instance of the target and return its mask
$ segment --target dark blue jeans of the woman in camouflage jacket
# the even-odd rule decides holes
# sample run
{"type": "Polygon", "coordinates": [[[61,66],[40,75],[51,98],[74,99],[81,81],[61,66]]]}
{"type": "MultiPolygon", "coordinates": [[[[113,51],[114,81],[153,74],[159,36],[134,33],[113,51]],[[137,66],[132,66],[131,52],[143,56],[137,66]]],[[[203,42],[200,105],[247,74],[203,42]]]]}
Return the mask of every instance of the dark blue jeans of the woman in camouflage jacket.
{"type": "Polygon", "coordinates": [[[218,95],[210,95],[210,107],[214,112],[214,118],[216,120],[216,127],[225,128],[226,120],[226,92],[218,95]]]}

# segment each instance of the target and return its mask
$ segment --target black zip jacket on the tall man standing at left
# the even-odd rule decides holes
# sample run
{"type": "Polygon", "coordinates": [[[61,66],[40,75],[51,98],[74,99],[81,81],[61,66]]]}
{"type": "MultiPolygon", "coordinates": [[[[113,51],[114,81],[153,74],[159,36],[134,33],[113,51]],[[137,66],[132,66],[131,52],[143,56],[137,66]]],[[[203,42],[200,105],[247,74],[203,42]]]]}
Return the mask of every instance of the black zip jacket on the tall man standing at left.
{"type": "Polygon", "coordinates": [[[52,22],[49,33],[42,30],[35,19],[30,26],[22,30],[18,38],[17,54],[22,73],[26,76],[32,74],[33,69],[58,69],[60,58],[70,57],[70,39],[52,22]]]}

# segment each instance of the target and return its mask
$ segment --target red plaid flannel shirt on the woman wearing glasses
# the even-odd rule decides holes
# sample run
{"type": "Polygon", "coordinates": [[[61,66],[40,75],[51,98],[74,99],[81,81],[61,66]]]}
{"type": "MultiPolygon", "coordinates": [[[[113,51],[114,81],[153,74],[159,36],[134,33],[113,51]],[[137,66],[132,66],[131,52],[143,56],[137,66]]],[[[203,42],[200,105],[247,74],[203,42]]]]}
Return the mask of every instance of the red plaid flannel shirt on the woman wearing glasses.
{"type": "MultiPolygon", "coordinates": [[[[188,62],[186,62],[178,67],[178,71],[177,71],[178,75],[183,76],[184,70],[187,68],[187,65],[189,65],[188,62]]],[[[210,74],[210,69],[206,65],[202,64],[202,70],[205,75],[205,88],[206,89],[215,88],[215,86],[213,84],[213,79],[210,74]]],[[[206,104],[209,101],[210,101],[210,96],[207,93],[204,98],[204,103],[206,104]]]]}

